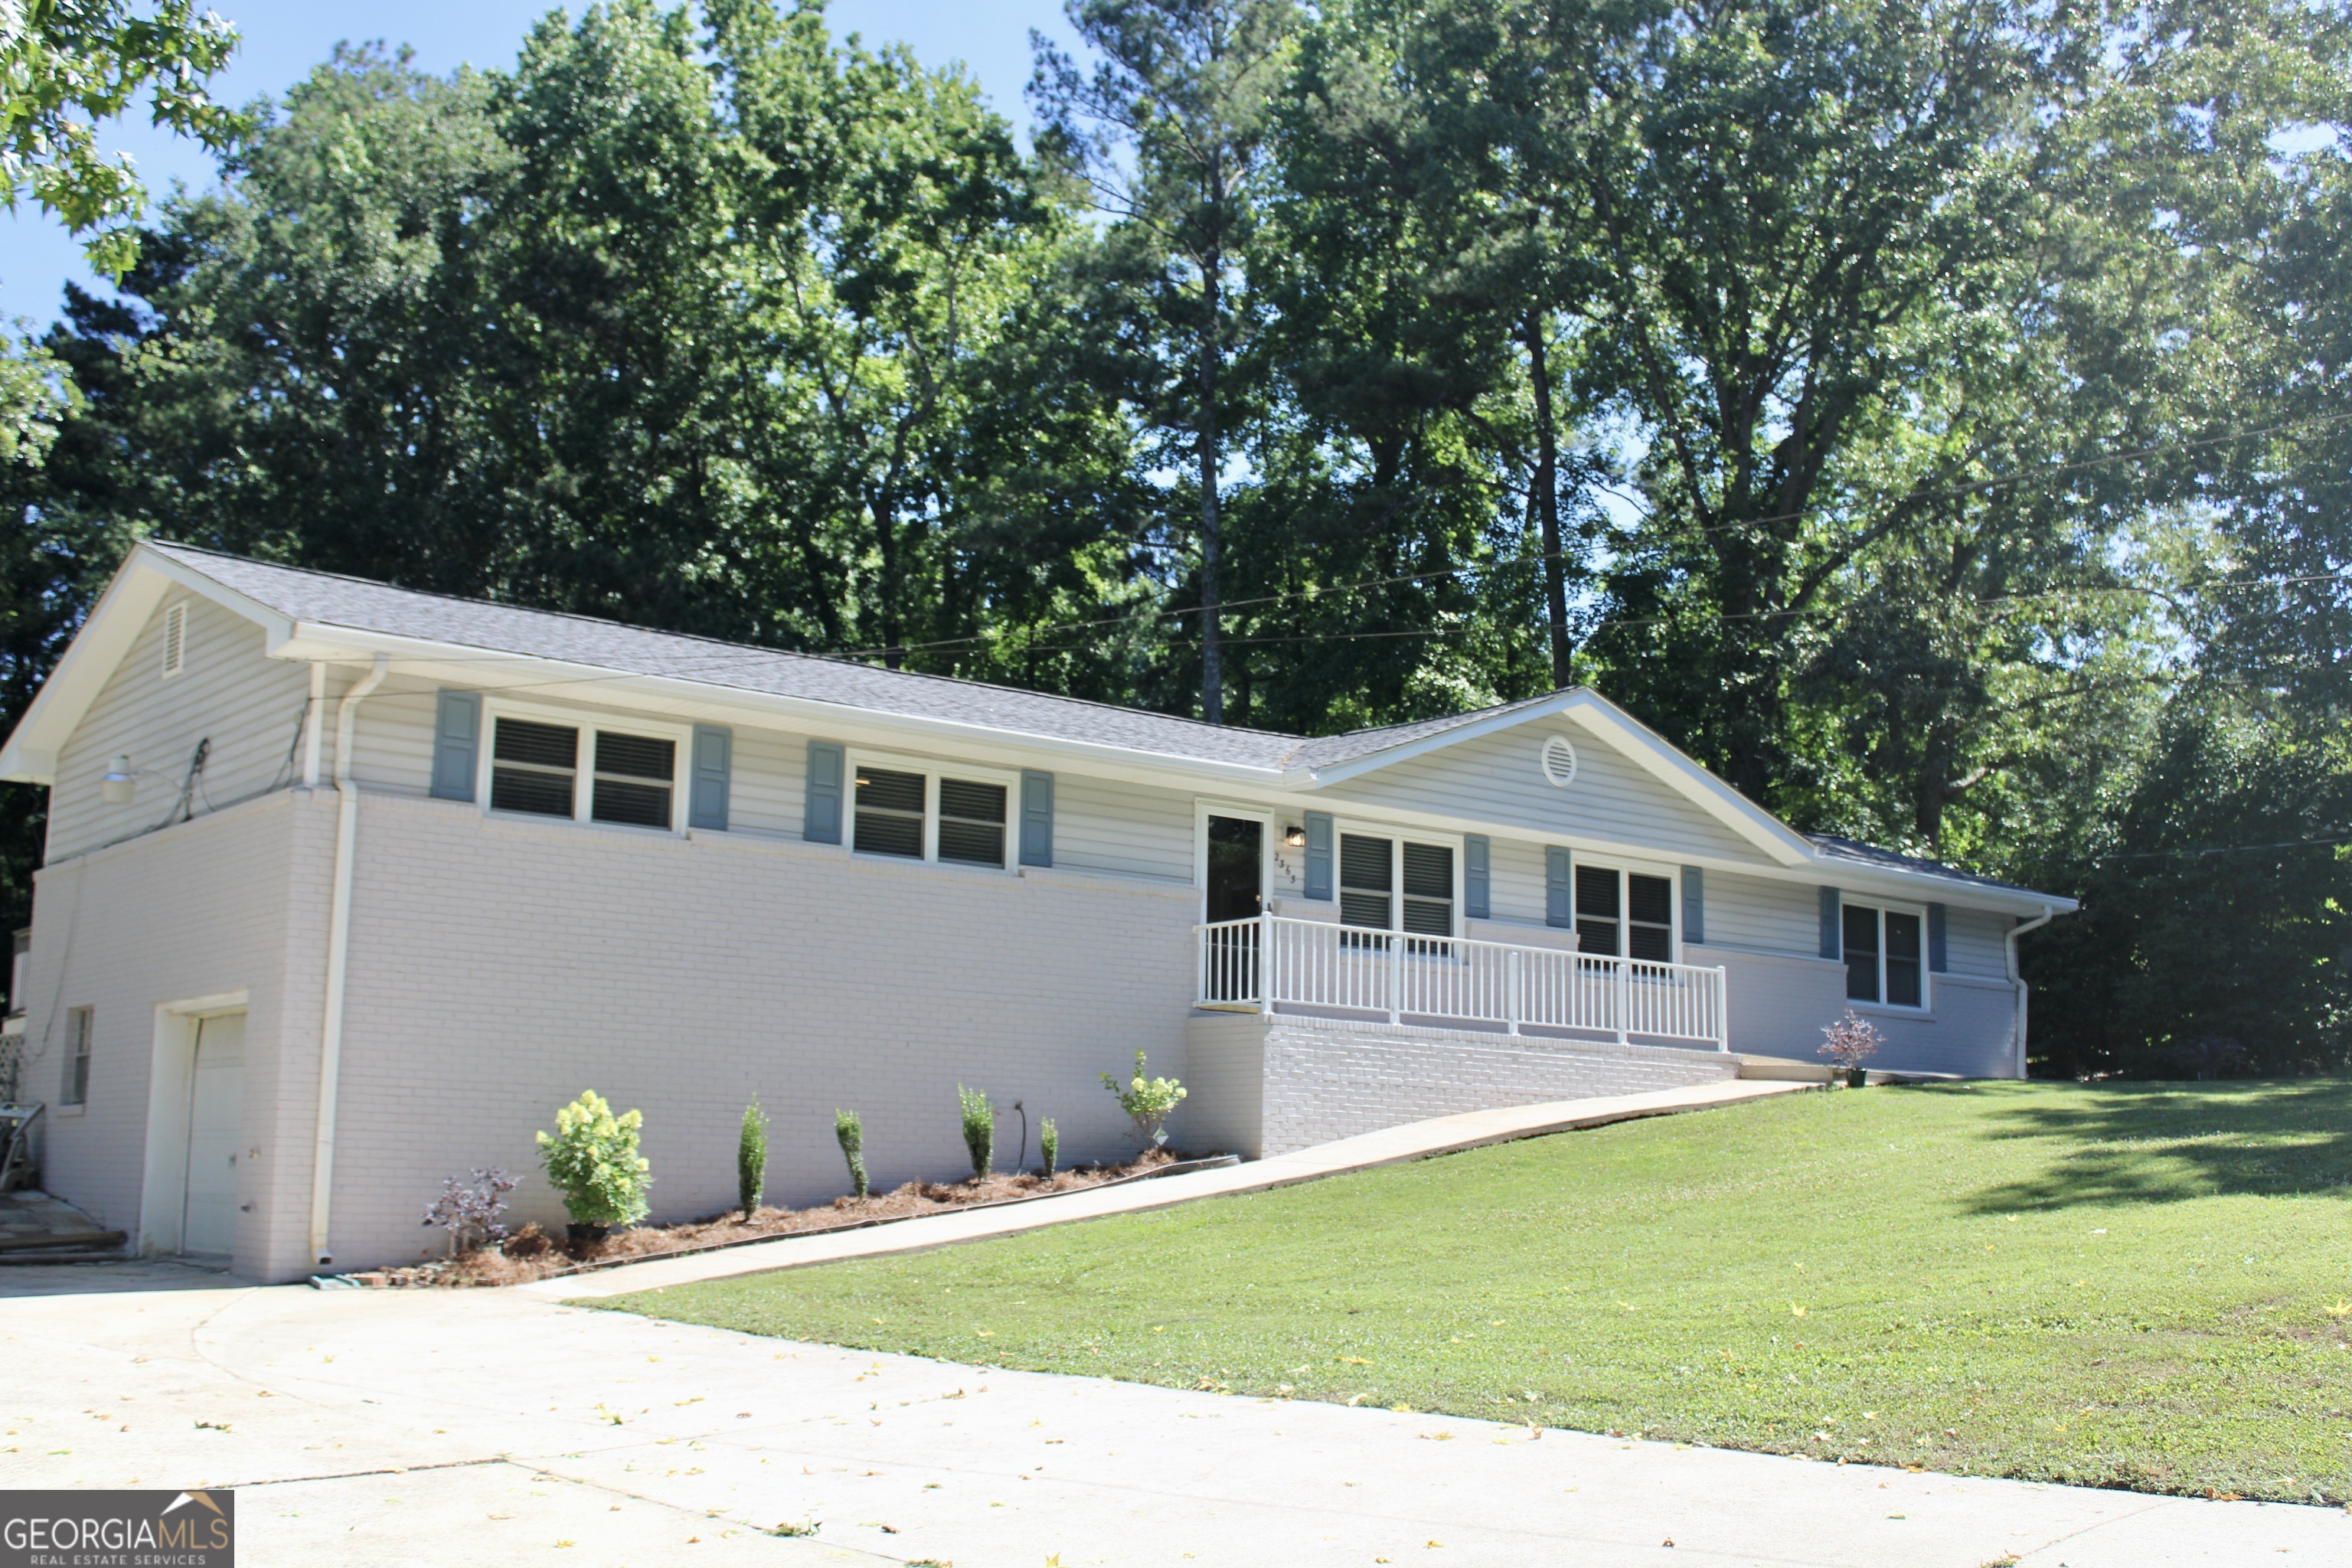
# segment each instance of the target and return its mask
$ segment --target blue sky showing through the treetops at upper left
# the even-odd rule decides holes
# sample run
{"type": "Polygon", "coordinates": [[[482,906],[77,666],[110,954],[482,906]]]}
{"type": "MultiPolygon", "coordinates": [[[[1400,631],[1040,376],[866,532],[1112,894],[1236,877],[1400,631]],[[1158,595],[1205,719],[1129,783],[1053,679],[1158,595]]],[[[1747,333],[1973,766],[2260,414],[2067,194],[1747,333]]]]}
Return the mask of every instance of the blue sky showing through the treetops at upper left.
{"type": "MultiPolygon", "coordinates": [[[[405,5],[353,5],[350,0],[212,0],[212,9],[238,24],[242,45],[212,89],[230,103],[259,94],[282,94],[310,66],[327,59],[336,40],[381,38],[416,49],[428,71],[461,63],[508,66],[529,26],[557,9],[553,0],[407,0],[405,5]]],[[[574,14],[579,5],[564,7],[574,14]]],[[[997,110],[1025,120],[1021,89],[1030,75],[1030,28],[1070,42],[1061,0],[833,0],[826,9],[835,35],[858,33],[868,47],[906,42],[927,66],[962,61],[978,78],[997,110]]],[[[202,148],[155,132],[141,110],[101,127],[108,150],[129,153],[151,195],[174,179],[207,186],[212,160],[202,148]]],[[[0,214],[0,317],[49,322],[73,277],[94,287],[82,249],[64,226],[31,202],[14,216],[0,214]]]]}

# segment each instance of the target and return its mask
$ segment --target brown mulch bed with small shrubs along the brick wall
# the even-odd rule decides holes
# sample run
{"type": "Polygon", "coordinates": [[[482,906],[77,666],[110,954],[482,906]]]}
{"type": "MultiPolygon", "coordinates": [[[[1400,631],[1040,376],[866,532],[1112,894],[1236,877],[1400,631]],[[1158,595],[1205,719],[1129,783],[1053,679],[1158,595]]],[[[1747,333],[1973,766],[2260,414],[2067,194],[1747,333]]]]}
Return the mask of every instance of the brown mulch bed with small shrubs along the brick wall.
{"type": "Polygon", "coordinates": [[[875,1220],[910,1220],[978,1204],[1009,1204],[1014,1199],[1049,1197],[1056,1192],[1084,1192],[1105,1182],[1148,1175],[1160,1166],[1176,1164],[1176,1154],[1152,1150],[1117,1166],[1080,1166],[1056,1171],[1051,1180],[1042,1175],[988,1175],[962,1182],[906,1182],[891,1192],[875,1192],[863,1199],[837,1197],[818,1208],[760,1208],[750,1218],[741,1211],[724,1211],[706,1220],[684,1225],[633,1225],[604,1237],[604,1241],[569,1244],[548,1234],[539,1225],[524,1225],[501,1246],[485,1246],[440,1262],[419,1262],[397,1269],[365,1269],[343,1274],[343,1281],[379,1291],[407,1291],[419,1286],[520,1286],[532,1279],[562,1274],[583,1262],[612,1265],[666,1253],[694,1253],[734,1241],[764,1241],[809,1229],[837,1229],[870,1225],[875,1220]]]}

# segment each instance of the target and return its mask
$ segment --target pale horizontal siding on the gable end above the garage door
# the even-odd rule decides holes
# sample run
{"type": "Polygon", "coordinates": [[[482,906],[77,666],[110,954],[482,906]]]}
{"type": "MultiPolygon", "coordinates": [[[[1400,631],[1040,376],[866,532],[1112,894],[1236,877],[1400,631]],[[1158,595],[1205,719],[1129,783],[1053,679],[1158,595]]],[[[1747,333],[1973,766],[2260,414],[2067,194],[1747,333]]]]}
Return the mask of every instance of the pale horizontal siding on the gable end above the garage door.
{"type": "Polygon", "coordinates": [[[174,816],[181,780],[198,741],[209,741],[191,809],[202,816],[285,783],[310,691],[310,670],[263,656],[261,628],[212,604],[186,607],[181,672],[162,679],[162,621],[158,609],[115,665],[113,677],[59,750],[49,788],[47,858],[64,860],[99,844],[160,827],[174,816]],[[129,757],[139,776],[132,804],[108,806],[99,776],[129,757]]]}

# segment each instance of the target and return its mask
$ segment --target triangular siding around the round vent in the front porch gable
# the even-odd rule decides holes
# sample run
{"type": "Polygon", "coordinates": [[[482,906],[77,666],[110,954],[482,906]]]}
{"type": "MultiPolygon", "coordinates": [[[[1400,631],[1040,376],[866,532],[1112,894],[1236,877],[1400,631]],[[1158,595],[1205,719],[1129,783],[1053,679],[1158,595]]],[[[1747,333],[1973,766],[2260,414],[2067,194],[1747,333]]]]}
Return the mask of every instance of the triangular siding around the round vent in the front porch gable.
{"type": "Polygon", "coordinates": [[[1345,816],[1345,802],[1439,811],[1477,823],[1515,825],[1536,839],[1583,837],[1665,858],[1710,856],[1764,860],[1764,851],[1670,790],[1656,773],[1623,757],[1606,741],[1571,726],[1524,724],[1465,741],[1409,762],[1319,790],[1324,809],[1345,816]],[[1543,743],[1566,733],[1576,743],[1576,783],[1555,790],[1543,780],[1543,743]]]}

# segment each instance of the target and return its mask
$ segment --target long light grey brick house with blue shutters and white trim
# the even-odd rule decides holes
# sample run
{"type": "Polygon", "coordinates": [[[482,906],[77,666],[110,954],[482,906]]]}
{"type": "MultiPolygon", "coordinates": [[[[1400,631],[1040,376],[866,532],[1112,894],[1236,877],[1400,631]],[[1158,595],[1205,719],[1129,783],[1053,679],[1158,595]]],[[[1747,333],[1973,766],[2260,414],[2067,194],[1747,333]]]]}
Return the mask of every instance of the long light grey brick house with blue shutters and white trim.
{"type": "MultiPolygon", "coordinates": [[[[656,1218],[1811,1058],[2016,1074],[2072,900],[1809,839],[1592,691],[1298,738],[139,545],[0,750],[49,785],[16,1009],[45,1180],[151,1253],[428,1251],[597,1088],[656,1218]],[[1014,1145],[1021,1145],[1021,1154],[1014,1145]]],[[[522,1218],[560,1220],[536,1173],[522,1218]]]]}

